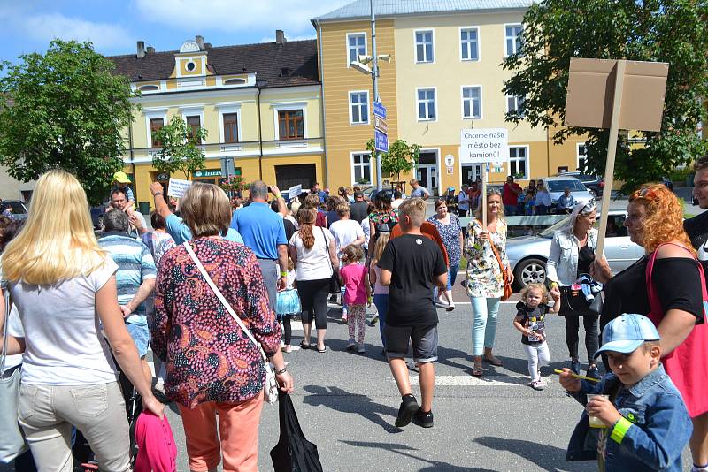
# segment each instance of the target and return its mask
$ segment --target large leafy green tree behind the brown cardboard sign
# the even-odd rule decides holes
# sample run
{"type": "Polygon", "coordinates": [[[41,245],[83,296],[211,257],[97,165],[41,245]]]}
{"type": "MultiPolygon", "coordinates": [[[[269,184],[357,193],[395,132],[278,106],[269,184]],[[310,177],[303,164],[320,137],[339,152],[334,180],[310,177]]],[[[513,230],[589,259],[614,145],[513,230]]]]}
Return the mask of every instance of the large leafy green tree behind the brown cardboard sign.
{"type": "Polygon", "coordinates": [[[524,16],[522,47],[504,60],[504,94],[525,97],[506,119],[551,128],[562,143],[587,134],[581,171],[604,174],[609,130],[560,127],[566,115],[571,57],[669,63],[661,131],[620,133],[615,176],[627,193],[703,155],[696,132],[708,95],[708,2],[705,0],[545,0],[524,16]],[[633,146],[633,141],[644,146],[633,146]]]}

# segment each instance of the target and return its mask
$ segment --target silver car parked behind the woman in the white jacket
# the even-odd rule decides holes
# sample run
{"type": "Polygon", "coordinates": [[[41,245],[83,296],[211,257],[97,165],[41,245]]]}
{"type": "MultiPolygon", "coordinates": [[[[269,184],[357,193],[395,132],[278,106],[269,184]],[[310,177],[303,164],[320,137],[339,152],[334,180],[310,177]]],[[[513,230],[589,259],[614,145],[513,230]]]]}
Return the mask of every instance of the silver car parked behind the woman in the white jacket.
{"type": "MultiPolygon", "coordinates": [[[[607,221],[604,255],[614,273],[627,269],[644,255],[644,248],[629,240],[624,226],[626,217],[627,212],[623,209],[610,210],[607,221]]],[[[566,217],[535,236],[506,240],[506,255],[514,271],[516,288],[523,288],[533,282],[543,283],[553,233],[566,226],[569,219],[566,217]]]]}

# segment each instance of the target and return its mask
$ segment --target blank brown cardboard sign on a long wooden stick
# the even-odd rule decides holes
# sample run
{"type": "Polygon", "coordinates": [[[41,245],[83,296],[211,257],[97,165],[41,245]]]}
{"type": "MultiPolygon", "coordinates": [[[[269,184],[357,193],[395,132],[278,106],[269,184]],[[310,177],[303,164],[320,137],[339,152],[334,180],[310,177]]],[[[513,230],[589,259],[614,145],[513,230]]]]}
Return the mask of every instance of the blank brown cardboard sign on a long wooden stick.
{"type": "Polygon", "coordinates": [[[661,130],[669,65],[624,59],[570,60],[566,126],[610,128],[596,254],[602,255],[620,129],[661,130]]]}

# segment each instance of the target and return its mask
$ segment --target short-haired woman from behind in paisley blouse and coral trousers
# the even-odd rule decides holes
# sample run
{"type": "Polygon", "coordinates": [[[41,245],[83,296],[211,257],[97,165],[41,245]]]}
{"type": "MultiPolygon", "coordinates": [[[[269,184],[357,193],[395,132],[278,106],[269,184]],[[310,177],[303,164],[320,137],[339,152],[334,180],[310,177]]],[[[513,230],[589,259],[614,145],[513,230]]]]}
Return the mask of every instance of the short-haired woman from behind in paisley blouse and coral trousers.
{"type": "MultiPolygon", "coordinates": [[[[181,201],[181,212],[194,237],[187,244],[263,346],[281,391],[292,392],[280,324],[269,308],[256,256],[221,237],[231,223],[227,195],[212,184],[195,183],[181,201]]],[[[181,245],[162,257],[155,311],[152,348],[167,362],[165,393],[180,407],[189,468],[216,470],[223,455],[225,470],[258,470],[266,366],[258,346],[223,308],[181,245]]]]}

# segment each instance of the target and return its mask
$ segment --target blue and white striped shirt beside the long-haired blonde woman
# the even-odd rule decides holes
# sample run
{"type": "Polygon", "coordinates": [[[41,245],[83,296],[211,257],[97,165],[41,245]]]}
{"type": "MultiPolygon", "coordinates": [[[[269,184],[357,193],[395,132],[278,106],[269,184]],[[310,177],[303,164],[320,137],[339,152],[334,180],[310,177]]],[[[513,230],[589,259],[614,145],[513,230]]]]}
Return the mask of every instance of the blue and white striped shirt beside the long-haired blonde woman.
{"type": "MultiPolygon", "coordinates": [[[[116,285],[118,285],[119,305],[125,305],[133,300],[142,282],[157,277],[155,261],[150,254],[150,249],[142,241],[134,240],[125,232],[104,232],[98,244],[111,253],[113,262],[118,264],[116,285]]],[[[126,323],[148,324],[146,315],[147,308],[143,301],[126,318],[126,323]]]]}

